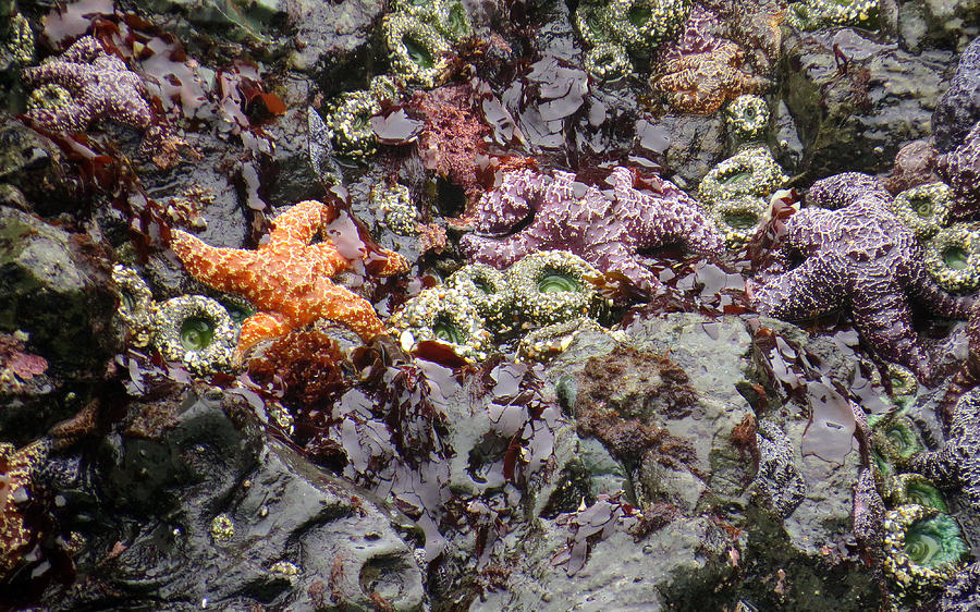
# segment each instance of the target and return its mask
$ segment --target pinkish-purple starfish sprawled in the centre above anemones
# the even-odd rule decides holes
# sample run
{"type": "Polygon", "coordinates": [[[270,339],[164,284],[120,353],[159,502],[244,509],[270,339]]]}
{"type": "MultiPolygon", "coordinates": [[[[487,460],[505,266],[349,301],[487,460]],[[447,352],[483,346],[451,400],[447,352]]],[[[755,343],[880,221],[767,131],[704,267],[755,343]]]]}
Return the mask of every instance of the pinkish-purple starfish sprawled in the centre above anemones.
{"type": "Polygon", "coordinates": [[[531,217],[530,224],[505,238],[469,234],[463,252],[476,261],[506,268],[528,253],[565,249],[599,270],[623,272],[638,286],[656,289],[660,280],[637,250],[683,243],[693,250],[721,255],[722,236],[695,200],[670,181],[654,179],[656,193],[634,187],[634,175],[615,168],[611,189],[575,181],[575,174],[551,176],[531,170],[504,174],[499,187],[476,205],[477,232],[501,235],[531,217]]]}

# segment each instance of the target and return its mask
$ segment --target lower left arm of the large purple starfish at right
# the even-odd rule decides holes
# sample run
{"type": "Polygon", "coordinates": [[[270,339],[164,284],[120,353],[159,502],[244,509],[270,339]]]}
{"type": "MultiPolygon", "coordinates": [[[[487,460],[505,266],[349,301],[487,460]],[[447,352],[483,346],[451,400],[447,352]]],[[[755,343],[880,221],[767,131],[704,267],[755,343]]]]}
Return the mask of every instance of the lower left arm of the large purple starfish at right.
{"type": "Polygon", "coordinates": [[[838,309],[844,301],[841,282],[819,257],[777,274],[754,291],[760,311],[779,319],[804,320],[838,309]]]}

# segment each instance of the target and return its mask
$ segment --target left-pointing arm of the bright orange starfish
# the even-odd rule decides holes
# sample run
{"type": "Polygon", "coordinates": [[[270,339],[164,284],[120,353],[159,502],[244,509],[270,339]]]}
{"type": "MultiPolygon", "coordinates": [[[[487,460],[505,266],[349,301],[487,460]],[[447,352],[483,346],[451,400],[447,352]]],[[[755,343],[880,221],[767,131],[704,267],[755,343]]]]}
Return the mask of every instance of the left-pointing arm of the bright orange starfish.
{"type": "Polygon", "coordinates": [[[211,246],[181,230],[171,232],[170,248],[187,273],[212,289],[244,295],[255,284],[256,252],[211,246]]]}

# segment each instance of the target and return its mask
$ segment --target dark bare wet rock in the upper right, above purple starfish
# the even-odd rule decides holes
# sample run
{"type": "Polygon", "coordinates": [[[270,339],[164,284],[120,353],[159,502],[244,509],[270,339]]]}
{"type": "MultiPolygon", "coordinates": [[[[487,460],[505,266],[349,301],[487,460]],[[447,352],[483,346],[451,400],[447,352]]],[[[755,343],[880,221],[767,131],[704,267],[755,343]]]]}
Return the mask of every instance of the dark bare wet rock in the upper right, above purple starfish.
{"type": "Polygon", "coordinates": [[[783,97],[806,146],[801,170],[887,171],[898,149],[930,134],[950,56],[914,56],[843,28],[786,41],[783,97]]]}

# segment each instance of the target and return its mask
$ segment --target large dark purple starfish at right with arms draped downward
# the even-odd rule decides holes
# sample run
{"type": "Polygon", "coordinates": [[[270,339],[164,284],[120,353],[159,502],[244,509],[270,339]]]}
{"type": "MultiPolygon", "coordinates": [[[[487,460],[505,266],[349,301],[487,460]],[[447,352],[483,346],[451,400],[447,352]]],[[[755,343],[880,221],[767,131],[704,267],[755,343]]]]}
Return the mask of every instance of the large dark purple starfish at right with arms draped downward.
{"type": "Polygon", "coordinates": [[[850,310],[879,355],[929,381],[932,360],[912,328],[911,301],[941,317],[963,319],[973,298],[955,297],[932,280],[916,236],[889,210],[890,198],[867,174],[818,181],[807,196],[810,207],[786,222],[775,266],[761,285],[749,283],[747,290],[760,313],[780,319],[850,310]],[[785,271],[800,258],[803,264],[785,271]]]}

